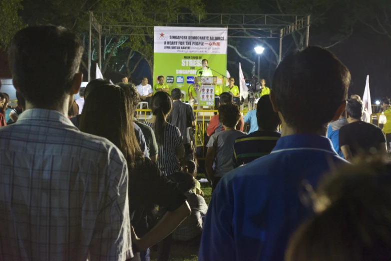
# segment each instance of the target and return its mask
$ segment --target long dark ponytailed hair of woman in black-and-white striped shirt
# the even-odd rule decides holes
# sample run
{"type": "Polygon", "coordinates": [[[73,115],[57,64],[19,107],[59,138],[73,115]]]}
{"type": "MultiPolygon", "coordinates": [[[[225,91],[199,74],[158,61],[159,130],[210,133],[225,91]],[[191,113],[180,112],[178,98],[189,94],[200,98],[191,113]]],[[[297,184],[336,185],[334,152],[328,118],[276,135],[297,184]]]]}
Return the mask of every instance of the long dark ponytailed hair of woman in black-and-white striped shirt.
{"type": "Polygon", "coordinates": [[[155,136],[158,145],[164,142],[164,126],[166,125],[166,116],[172,109],[172,98],[164,91],[156,92],[152,97],[152,113],[156,116],[155,136]]]}

